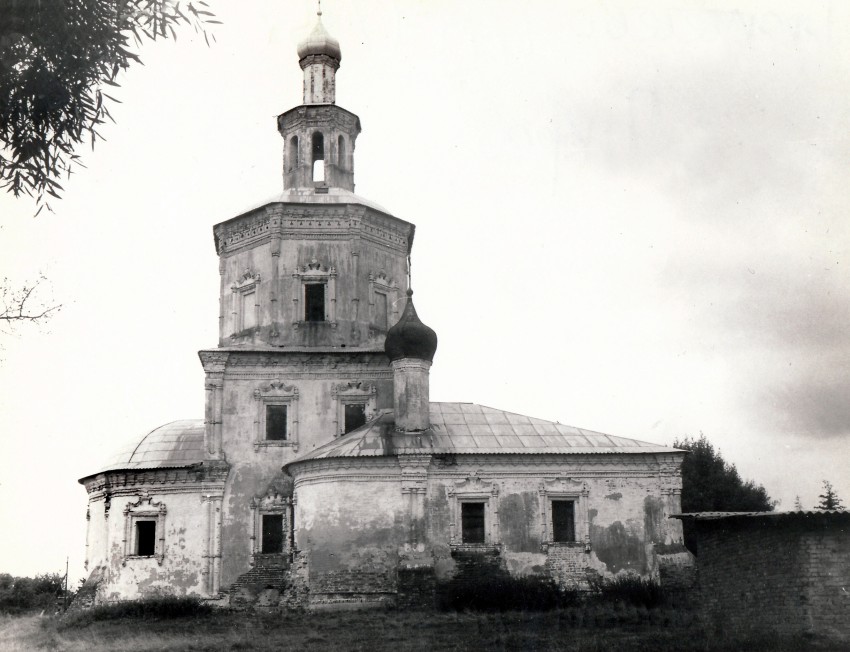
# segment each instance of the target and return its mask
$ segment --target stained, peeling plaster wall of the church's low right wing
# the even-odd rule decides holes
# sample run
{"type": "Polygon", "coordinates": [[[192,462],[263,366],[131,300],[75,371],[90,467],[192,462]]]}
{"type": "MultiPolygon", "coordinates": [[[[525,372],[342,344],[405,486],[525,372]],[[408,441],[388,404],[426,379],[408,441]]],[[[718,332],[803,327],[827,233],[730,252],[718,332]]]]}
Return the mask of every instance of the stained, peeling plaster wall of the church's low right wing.
{"type": "Polygon", "coordinates": [[[563,586],[587,589],[588,576],[657,574],[654,546],[681,541],[661,495],[666,481],[652,471],[651,456],[643,464],[634,456],[604,456],[572,470],[558,456],[538,458],[533,467],[527,457],[463,458],[430,460],[421,498],[427,536],[415,545],[410,503],[405,502],[409,494],[395,458],[316,460],[290,467],[298,503],[297,547],[311,551],[311,590],[323,596],[313,600],[345,601],[345,586],[349,597],[356,594],[355,601],[366,600],[373,589],[368,599],[385,598],[397,590],[400,568],[430,567],[438,581],[445,581],[466,572],[476,555],[495,555],[488,563],[514,576],[548,576],[563,586]],[[362,481],[342,480],[343,475],[362,481]],[[559,477],[566,479],[558,484],[559,477]],[[586,494],[581,503],[586,514],[576,516],[574,542],[552,541],[542,502],[552,496],[544,485],[549,492],[574,487],[586,494]],[[616,500],[612,493],[619,494],[616,500]],[[487,503],[481,544],[463,540],[460,506],[466,501],[487,503]],[[460,566],[458,555],[466,560],[460,566]]]}

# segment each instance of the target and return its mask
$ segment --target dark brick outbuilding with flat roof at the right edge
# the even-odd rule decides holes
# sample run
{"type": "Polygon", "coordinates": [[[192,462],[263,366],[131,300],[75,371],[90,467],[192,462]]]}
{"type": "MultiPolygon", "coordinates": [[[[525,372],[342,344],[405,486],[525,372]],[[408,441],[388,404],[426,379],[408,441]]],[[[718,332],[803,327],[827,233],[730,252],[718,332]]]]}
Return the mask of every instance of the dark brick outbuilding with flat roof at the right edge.
{"type": "Polygon", "coordinates": [[[850,513],[703,512],[700,605],[727,632],[850,641],[850,513]]]}

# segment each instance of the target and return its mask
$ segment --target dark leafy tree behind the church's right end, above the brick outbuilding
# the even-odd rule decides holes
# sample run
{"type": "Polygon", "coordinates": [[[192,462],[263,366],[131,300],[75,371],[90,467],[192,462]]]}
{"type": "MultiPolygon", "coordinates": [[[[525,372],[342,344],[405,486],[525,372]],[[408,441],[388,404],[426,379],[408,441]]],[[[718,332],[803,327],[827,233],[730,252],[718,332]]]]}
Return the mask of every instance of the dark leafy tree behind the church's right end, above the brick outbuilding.
{"type": "MultiPolygon", "coordinates": [[[[743,480],[705,435],[677,439],[673,447],[688,451],[682,462],[682,512],[767,512],[778,504],[762,485],[743,480]]],[[[693,528],[684,526],[685,545],[696,554],[693,528]]]]}

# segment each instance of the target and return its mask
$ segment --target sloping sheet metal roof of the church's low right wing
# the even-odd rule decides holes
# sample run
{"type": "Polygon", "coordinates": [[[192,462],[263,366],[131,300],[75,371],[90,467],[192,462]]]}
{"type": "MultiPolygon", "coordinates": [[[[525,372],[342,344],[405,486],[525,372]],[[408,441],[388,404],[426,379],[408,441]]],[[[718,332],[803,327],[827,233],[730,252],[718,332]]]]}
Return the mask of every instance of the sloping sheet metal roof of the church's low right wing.
{"type": "Polygon", "coordinates": [[[672,453],[675,448],[553,421],[505,412],[475,403],[431,403],[431,428],[419,434],[395,430],[391,410],[357,430],[294,460],[436,454],[672,453]]]}

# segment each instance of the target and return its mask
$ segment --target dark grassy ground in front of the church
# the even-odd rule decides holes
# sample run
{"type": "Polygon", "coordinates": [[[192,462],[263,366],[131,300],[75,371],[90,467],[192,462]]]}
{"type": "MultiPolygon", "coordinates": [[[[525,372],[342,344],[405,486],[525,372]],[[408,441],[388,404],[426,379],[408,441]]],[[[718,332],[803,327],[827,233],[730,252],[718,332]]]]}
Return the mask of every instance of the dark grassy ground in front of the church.
{"type": "Polygon", "coordinates": [[[563,610],[503,614],[338,612],[246,615],[219,612],[174,619],[126,618],[69,626],[55,617],[0,616],[0,650],[679,650],[798,652],[846,650],[823,641],[709,636],[681,612],[638,614],[563,610]]]}

